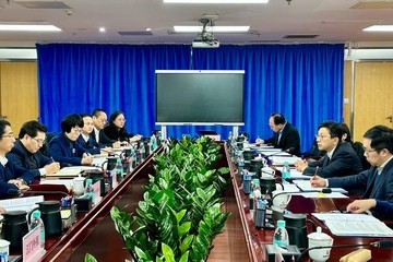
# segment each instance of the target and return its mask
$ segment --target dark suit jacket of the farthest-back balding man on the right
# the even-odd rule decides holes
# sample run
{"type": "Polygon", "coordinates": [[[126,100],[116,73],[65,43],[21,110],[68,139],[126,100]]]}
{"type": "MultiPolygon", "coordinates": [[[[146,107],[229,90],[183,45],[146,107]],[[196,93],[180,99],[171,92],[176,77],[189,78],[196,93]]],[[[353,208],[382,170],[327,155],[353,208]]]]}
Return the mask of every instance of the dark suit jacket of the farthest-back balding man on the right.
{"type": "Polygon", "coordinates": [[[278,136],[279,132],[275,133],[270,139],[265,139],[264,142],[266,144],[272,144],[276,148],[282,148],[283,151],[294,147],[294,152],[290,153],[300,156],[300,135],[294,126],[287,122],[283,129],[279,142],[278,136]]]}

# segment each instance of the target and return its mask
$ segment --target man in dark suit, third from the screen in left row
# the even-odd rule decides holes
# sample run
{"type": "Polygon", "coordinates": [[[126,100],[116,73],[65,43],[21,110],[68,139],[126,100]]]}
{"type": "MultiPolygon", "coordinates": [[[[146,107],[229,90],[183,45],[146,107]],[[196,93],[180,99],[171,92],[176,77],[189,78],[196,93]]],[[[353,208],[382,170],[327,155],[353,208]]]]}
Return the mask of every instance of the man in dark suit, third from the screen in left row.
{"type": "Polygon", "coordinates": [[[100,153],[111,153],[111,148],[105,146],[104,144],[98,144],[93,138],[91,133],[93,132],[93,118],[91,115],[81,114],[83,119],[83,128],[80,136],[76,142],[85,148],[90,154],[100,154],[100,153]]]}

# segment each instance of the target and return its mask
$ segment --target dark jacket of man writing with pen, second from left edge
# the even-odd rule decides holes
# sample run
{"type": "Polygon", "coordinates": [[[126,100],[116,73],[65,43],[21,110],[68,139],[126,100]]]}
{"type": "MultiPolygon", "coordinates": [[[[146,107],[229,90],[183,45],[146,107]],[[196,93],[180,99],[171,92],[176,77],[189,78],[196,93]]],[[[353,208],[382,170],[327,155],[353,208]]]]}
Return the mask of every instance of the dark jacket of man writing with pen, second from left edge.
{"type": "Polygon", "coordinates": [[[50,157],[44,155],[40,151],[32,154],[20,140],[15,142],[14,146],[7,153],[5,157],[16,166],[28,169],[35,177],[40,176],[39,168],[43,168],[52,162],[50,157]]]}

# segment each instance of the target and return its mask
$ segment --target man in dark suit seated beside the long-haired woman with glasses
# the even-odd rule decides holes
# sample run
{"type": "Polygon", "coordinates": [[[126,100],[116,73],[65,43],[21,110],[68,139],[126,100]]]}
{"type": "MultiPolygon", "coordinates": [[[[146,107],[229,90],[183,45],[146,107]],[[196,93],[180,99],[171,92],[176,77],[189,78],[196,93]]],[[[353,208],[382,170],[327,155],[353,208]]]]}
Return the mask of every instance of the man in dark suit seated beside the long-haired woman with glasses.
{"type": "Polygon", "coordinates": [[[93,132],[91,133],[92,139],[98,144],[105,146],[112,146],[114,148],[120,147],[120,141],[111,140],[104,133],[105,124],[107,123],[107,115],[103,109],[94,109],[93,114],[93,132]]]}

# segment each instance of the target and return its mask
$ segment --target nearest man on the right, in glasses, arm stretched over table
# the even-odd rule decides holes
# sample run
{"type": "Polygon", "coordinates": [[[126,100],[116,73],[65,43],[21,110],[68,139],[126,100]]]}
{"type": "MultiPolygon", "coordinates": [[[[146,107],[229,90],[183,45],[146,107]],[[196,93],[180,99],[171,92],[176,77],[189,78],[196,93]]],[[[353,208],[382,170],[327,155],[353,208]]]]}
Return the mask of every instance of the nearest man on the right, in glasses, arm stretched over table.
{"type": "Polygon", "coordinates": [[[358,175],[322,178],[313,176],[312,187],[361,189],[362,199],[393,202],[393,129],[376,126],[364,134],[365,156],[371,164],[369,170],[358,175]]]}

